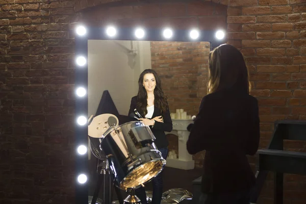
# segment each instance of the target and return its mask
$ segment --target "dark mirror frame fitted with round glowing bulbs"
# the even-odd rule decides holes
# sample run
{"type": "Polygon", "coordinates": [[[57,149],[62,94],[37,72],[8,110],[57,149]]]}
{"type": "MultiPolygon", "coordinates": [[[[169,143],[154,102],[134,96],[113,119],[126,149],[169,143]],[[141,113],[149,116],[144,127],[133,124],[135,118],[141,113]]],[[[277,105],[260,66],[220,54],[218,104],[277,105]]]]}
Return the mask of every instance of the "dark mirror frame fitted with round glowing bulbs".
{"type": "MultiPolygon", "coordinates": [[[[86,27],[84,25],[75,26],[75,93],[78,88],[82,87],[86,90],[86,94],[84,96],[75,96],[75,153],[77,157],[75,159],[75,202],[80,204],[88,203],[88,180],[84,184],[80,184],[78,182],[78,177],[81,174],[89,175],[88,170],[88,152],[83,155],[78,154],[78,147],[80,145],[88,147],[88,124],[87,122],[83,125],[78,124],[79,117],[83,117],[83,121],[88,120],[88,40],[138,40],[138,41],[180,41],[180,42],[210,42],[210,49],[224,44],[226,41],[226,33],[224,30],[224,38],[222,40],[218,40],[216,36],[216,32],[219,30],[197,30],[199,32],[199,36],[197,39],[192,39],[189,37],[191,30],[172,30],[172,37],[165,38],[163,37],[163,29],[143,29],[145,35],[143,38],[139,39],[135,36],[135,30],[137,28],[116,28],[116,35],[110,37],[107,35],[107,29],[109,27],[86,27]],[[78,29],[83,27],[83,31],[85,29],[86,33],[84,35],[78,34],[78,29]],[[83,66],[80,66],[76,63],[78,57],[84,57],[86,59],[86,63],[83,66]],[[85,118],[84,118],[85,117],[85,118]],[[87,137],[86,137],[87,136],[87,137]]],[[[85,122],[85,121],[84,121],[85,122]]],[[[83,123],[84,123],[83,122],[83,123]]]]}

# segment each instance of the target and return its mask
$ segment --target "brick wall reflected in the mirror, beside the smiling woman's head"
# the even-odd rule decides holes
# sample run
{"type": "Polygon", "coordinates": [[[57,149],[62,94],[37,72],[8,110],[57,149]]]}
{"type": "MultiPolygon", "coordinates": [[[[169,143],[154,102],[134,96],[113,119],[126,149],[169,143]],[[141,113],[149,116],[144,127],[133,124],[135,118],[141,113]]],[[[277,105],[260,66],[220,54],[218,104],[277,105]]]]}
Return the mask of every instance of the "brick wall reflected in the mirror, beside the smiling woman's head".
{"type": "Polygon", "coordinates": [[[151,42],[151,64],[162,80],[170,112],[198,112],[207,93],[209,42],[151,42]]]}

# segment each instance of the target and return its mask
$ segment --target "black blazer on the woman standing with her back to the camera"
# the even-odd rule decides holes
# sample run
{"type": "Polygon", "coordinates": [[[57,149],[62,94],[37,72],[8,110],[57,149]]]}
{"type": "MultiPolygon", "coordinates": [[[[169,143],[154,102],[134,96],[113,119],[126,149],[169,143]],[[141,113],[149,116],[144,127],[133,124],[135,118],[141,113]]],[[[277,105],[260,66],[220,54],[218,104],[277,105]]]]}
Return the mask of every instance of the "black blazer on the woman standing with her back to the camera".
{"type": "Polygon", "coordinates": [[[249,94],[226,90],[202,98],[187,141],[189,154],[206,150],[202,192],[237,192],[254,185],[246,155],[257,152],[259,122],[258,101],[249,94]]]}

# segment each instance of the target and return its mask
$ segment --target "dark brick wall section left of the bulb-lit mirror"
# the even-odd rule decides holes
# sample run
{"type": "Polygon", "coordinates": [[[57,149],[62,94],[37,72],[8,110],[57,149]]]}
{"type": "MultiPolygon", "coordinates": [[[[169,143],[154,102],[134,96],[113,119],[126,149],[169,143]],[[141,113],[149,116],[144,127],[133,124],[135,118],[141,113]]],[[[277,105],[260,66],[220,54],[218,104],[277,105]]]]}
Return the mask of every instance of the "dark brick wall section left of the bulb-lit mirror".
{"type": "Polygon", "coordinates": [[[74,203],[74,18],[0,0],[0,203],[74,203]]]}

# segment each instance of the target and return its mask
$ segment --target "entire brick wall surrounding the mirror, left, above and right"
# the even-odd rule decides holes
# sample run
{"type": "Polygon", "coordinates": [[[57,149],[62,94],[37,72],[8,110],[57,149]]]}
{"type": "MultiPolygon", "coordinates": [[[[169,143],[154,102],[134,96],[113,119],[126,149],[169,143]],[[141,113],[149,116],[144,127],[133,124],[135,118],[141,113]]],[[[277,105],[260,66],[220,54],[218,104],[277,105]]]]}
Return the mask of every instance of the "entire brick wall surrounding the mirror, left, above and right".
{"type": "MultiPolygon", "coordinates": [[[[90,2],[78,1],[82,7],[90,2]]],[[[252,95],[260,102],[261,147],[266,147],[276,119],[306,118],[306,5],[303,0],[228,2],[226,11],[210,2],[122,1],[119,7],[89,9],[81,20],[216,29],[226,28],[227,16],[229,42],[247,57],[252,95]]],[[[74,202],[74,41],[68,23],[78,16],[72,7],[72,1],[0,0],[1,203],[74,202]]],[[[285,147],[305,150],[301,142],[285,147]]],[[[249,161],[254,166],[256,158],[249,161]]],[[[286,174],[285,203],[303,203],[305,183],[304,176],[286,174]]],[[[258,203],[272,203],[272,187],[272,180],[265,183],[258,203]]]]}

